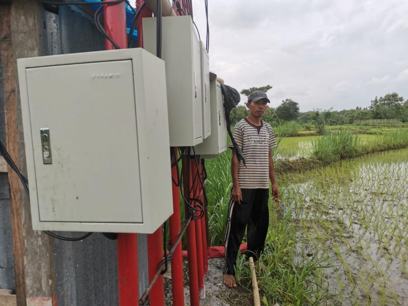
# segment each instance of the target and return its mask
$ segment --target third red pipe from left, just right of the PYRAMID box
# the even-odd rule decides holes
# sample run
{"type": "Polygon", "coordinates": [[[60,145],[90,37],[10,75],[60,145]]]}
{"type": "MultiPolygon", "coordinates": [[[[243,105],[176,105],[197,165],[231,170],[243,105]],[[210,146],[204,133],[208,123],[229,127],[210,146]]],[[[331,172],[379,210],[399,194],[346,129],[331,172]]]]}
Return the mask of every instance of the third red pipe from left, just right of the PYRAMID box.
{"type": "MultiPolygon", "coordinates": [[[[173,148],[177,152],[177,148],[173,148]]],[[[177,167],[177,153],[172,157],[172,176],[176,183],[178,180],[177,167]]],[[[173,214],[169,218],[170,227],[170,243],[173,247],[181,229],[180,218],[180,189],[173,182],[173,214]]],[[[173,291],[173,305],[184,306],[184,284],[183,284],[183,258],[181,257],[181,242],[175,248],[172,258],[172,291],[173,291]]]]}

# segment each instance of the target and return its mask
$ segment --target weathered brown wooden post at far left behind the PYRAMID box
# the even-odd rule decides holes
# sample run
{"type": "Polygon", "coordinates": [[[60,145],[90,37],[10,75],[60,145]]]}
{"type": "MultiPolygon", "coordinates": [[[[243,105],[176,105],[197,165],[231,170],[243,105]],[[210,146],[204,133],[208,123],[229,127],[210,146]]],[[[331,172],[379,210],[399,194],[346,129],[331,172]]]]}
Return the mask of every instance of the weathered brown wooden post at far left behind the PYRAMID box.
{"type": "MultiPolygon", "coordinates": [[[[12,0],[0,5],[0,51],[4,80],[7,151],[27,175],[17,59],[40,56],[42,8],[37,1],[12,0]]],[[[57,305],[54,249],[50,237],[33,231],[29,199],[9,168],[11,227],[18,306],[57,305]]]]}

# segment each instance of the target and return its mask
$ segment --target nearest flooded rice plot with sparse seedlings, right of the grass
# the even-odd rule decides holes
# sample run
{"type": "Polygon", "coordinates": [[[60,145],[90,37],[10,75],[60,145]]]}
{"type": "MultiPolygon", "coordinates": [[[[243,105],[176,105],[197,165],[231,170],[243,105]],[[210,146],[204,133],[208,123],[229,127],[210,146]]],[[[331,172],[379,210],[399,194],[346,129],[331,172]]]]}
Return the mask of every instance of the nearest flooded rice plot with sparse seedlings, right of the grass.
{"type": "Polygon", "coordinates": [[[408,149],[284,178],[299,258],[327,257],[344,305],[408,305],[408,149]]]}

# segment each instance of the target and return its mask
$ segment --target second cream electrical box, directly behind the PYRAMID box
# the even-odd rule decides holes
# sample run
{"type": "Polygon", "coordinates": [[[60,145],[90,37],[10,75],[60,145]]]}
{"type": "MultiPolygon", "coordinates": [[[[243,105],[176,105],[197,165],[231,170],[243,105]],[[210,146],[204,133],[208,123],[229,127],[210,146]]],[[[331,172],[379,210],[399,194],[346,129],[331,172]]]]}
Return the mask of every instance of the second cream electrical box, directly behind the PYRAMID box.
{"type": "MultiPolygon", "coordinates": [[[[190,16],[162,18],[162,59],[166,62],[170,145],[203,142],[201,43],[190,16]]],[[[156,54],[156,18],[143,19],[143,46],[156,54]]]]}

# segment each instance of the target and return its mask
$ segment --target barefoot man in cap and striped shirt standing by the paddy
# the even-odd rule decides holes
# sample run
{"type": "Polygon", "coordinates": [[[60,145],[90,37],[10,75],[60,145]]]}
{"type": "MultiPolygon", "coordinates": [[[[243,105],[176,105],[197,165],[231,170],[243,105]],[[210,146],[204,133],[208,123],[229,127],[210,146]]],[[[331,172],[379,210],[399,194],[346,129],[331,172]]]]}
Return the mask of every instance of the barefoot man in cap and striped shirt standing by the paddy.
{"type": "MultiPolygon", "coordinates": [[[[277,146],[270,124],[262,121],[269,99],[265,92],[248,96],[249,116],[236,123],[233,137],[245,157],[239,162],[235,150],[231,160],[233,190],[225,233],[224,283],[236,287],[234,265],[247,227],[247,255],[256,261],[263,251],[269,224],[269,180],[272,198],[279,201],[271,149],[277,146]]],[[[233,145],[230,144],[233,149],[233,145]]]]}

